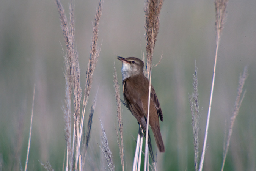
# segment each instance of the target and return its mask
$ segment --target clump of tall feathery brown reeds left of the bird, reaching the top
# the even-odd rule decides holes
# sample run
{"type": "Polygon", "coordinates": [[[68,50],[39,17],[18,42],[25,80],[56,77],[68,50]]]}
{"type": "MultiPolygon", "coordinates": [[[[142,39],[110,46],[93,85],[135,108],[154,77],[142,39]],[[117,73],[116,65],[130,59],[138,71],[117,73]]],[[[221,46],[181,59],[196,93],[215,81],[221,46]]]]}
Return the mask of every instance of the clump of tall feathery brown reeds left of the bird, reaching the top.
{"type": "MultiPolygon", "coordinates": [[[[66,53],[64,55],[64,77],[66,80],[66,92],[65,92],[65,105],[63,107],[64,120],[65,120],[65,139],[67,143],[67,153],[66,153],[66,170],[82,170],[86,152],[80,153],[80,144],[82,140],[83,132],[83,121],[85,117],[85,108],[88,102],[88,97],[90,94],[90,89],[92,85],[93,72],[97,64],[99,57],[100,48],[97,47],[98,40],[98,29],[99,29],[99,19],[102,14],[102,0],[99,0],[99,6],[96,11],[96,16],[94,19],[93,26],[93,37],[90,50],[90,58],[88,63],[88,70],[86,72],[86,84],[83,97],[82,105],[82,115],[80,118],[80,105],[82,88],[80,86],[80,67],[78,62],[78,52],[75,47],[75,28],[74,28],[74,5],[73,1],[70,1],[69,5],[69,22],[67,20],[64,8],[60,0],[55,0],[60,15],[61,29],[64,35],[64,41],[66,43],[66,53]],[[71,101],[73,100],[74,112],[71,112],[71,101]],[[74,113],[72,115],[72,113],[74,113]],[[72,124],[72,118],[74,124],[72,124]],[[72,127],[72,125],[74,127],[72,127]],[[73,136],[72,133],[73,132],[73,136]],[[72,141],[72,143],[71,143],[72,141]],[[75,153],[75,160],[73,158],[75,153]],[[74,168],[73,168],[74,162],[74,168]],[[79,166],[77,166],[79,165],[79,166]]],[[[92,116],[92,115],[91,115],[92,116]]],[[[90,124],[91,122],[89,122],[90,124]]],[[[90,128],[91,126],[89,126],[90,128]]],[[[89,131],[90,133],[90,131],[89,131]]],[[[90,135],[86,135],[90,137],[90,135]]],[[[87,138],[89,141],[90,138],[87,138]]],[[[88,141],[86,146],[88,146],[88,141]]],[[[86,147],[87,148],[87,147],[86,147]]]]}

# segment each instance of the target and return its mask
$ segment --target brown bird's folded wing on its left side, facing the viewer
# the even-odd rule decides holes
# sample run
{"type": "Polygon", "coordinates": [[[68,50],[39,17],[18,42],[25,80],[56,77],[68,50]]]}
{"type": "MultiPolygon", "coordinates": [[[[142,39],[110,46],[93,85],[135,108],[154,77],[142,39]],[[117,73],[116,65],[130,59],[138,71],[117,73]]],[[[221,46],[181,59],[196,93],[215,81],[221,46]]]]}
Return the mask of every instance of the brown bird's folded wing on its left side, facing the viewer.
{"type": "Polygon", "coordinates": [[[123,81],[123,93],[126,105],[127,107],[129,107],[130,111],[132,112],[132,115],[141,124],[142,129],[146,129],[147,124],[144,117],[143,103],[141,99],[138,98],[137,89],[134,89],[129,84],[129,80],[123,81]]]}

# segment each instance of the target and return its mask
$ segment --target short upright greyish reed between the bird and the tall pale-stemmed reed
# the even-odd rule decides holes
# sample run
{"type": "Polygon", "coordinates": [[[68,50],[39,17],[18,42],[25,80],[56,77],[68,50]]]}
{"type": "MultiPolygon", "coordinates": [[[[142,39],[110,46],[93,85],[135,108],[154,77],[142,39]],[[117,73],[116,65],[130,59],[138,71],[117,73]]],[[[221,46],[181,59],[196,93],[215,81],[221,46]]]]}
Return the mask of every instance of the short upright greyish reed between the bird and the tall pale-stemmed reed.
{"type": "Polygon", "coordinates": [[[191,96],[189,96],[189,104],[192,115],[192,128],[193,128],[193,137],[194,137],[194,164],[195,170],[198,170],[198,160],[199,160],[199,101],[198,101],[198,80],[197,80],[197,67],[195,63],[195,74],[194,75],[194,83],[193,88],[194,92],[191,96]]]}

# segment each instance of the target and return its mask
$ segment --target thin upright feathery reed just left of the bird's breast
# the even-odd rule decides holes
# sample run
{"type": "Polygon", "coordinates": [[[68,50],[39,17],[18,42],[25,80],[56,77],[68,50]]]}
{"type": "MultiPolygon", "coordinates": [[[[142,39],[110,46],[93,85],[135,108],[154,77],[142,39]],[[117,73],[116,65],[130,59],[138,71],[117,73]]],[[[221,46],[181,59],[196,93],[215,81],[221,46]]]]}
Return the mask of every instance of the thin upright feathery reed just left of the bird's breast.
{"type": "MultiPolygon", "coordinates": [[[[116,106],[117,106],[117,121],[119,127],[119,133],[116,130],[116,135],[118,138],[118,147],[119,147],[119,155],[121,159],[122,171],[124,171],[124,140],[123,140],[123,120],[121,115],[121,100],[119,93],[119,84],[117,79],[116,67],[114,63],[114,87],[115,87],[115,97],[116,97],[116,106]]],[[[115,127],[116,129],[116,127],[115,127]]]]}

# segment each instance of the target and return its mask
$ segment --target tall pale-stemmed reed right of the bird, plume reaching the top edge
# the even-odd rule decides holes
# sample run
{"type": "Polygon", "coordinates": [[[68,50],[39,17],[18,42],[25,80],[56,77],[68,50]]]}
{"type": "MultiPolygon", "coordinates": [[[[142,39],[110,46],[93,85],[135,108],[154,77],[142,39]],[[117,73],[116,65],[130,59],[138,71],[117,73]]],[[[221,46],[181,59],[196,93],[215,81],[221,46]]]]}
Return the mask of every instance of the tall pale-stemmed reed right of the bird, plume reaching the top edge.
{"type": "Polygon", "coordinates": [[[209,122],[210,122],[210,112],[212,108],[212,96],[213,96],[213,90],[214,90],[214,82],[215,82],[215,72],[216,72],[216,64],[217,64],[217,56],[218,56],[218,47],[220,43],[220,36],[221,32],[223,30],[224,21],[226,18],[226,7],[228,4],[228,0],[215,0],[215,10],[216,10],[216,20],[215,20],[215,29],[216,29],[216,50],[215,50],[215,61],[214,61],[214,71],[212,76],[212,88],[210,93],[210,100],[209,100],[209,108],[208,108],[208,114],[207,114],[207,122],[206,122],[206,129],[205,129],[205,135],[204,135],[204,145],[199,165],[199,171],[202,171],[203,164],[204,164],[204,156],[206,152],[206,146],[207,146],[207,136],[208,136],[208,128],[209,128],[209,122]]]}

